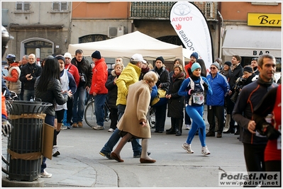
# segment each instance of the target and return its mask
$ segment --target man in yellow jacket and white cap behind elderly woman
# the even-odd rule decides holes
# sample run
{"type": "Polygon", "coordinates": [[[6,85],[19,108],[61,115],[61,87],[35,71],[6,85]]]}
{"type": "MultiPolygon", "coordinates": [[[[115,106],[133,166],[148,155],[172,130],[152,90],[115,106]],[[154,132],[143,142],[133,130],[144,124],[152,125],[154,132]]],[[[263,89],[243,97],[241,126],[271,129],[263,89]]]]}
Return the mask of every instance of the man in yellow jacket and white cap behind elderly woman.
{"type": "MultiPolygon", "coordinates": [[[[118,120],[121,119],[127,102],[128,96],[128,87],[135,82],[138,82],[138,78],[140,76],[140,71],[143,63],[146,61],[143,59],[143,56],[140,54],[135,54],[131,57],[130,63],[123,69],[121,75],[116,81],[116,85],[118,87],[117,101],[116,105],[118,106],[118,120]]],[[[117,144],[120,139],[119,135],[120,130],[116,128],[108,142],[104,144],[104,147],[101,149],[99,154],[101,156],[106,156],[108,159],[111,159],[110,154],[113,147],[117,144]]],[[[141,154],[141,145],[138,142],[138,139],[133,139],[132,141],[133,147],[133,157],[139,158],[141,154]]]]}

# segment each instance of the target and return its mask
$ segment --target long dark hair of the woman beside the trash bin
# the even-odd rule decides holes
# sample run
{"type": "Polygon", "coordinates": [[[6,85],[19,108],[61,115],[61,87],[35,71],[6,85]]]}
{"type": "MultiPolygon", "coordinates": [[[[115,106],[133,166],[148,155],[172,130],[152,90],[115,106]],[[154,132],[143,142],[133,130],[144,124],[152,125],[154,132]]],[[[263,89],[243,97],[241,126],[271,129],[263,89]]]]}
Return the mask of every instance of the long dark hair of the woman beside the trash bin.
{"type": "Polygon", "coordinates": [[[47,91],[48,84],[53,79],[60,81],[60,65],[57,59],[48,58],[38,81],[38,91],[47,91]]]}

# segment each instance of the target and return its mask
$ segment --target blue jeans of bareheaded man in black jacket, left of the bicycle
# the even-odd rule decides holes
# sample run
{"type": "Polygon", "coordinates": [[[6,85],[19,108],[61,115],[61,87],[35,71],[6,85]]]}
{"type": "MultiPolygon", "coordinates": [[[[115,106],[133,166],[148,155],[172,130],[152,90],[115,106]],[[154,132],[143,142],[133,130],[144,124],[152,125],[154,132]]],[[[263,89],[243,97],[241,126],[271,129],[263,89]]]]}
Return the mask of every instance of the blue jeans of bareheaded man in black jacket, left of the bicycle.
{"type": "Polygon", "coordinates": [[[72,122],[82,122],[82,119],[84,118],[85,98],[86,89],[84,86],[79,86],[77,91],[74,93],[72,122]]]}

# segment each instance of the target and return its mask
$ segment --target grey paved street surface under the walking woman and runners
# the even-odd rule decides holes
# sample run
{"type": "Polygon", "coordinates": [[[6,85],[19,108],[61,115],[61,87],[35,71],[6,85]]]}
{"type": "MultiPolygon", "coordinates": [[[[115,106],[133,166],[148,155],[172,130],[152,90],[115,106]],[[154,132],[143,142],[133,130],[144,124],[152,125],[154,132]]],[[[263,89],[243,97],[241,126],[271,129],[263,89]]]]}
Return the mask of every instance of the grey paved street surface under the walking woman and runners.
{"type": "MultiPolygon", "coordinates": [[[[195,153],[187,154],[181,147],[188,133],[184,126],[180,137],[151,130],[149,151],[152,152],[150,156],[157,159],[155,164],[140,164],[139,159],[133,158],[131,144],[126,144],[121,151],[125,162],[117,163],[99,154],[112,134],[107,132],[109,125],[110,122],[105,122],[106,129],[99,131],[85,123],[82,128],[62,130],[58,135],[60,156],[46,161],[48,167],[45,170],[52,173],[52,178],[38,178],[38,181],[29,183],[42,182],[45,188],[217,187],[219,168],[245,171],[243,144],[235,139],[236,136],[206,137],[211,151],[207,157],[201,155],[199,137],[196,137],[192,144],[195,153]],[[233,151],[229,150],[231,147],[233,151]],[[183,180],[184,175],[188,177],[183,180]]],[[[165,122],[165,129],[168,128],[170,118],[165,122]]],[[[2,154],[6,157],[6,137],[2,138],[2,154]]],[[[2,172],[2,183],[7,181],[2,172]]],[[[17,183],[23,186],[26,182],[17,183]]]]}

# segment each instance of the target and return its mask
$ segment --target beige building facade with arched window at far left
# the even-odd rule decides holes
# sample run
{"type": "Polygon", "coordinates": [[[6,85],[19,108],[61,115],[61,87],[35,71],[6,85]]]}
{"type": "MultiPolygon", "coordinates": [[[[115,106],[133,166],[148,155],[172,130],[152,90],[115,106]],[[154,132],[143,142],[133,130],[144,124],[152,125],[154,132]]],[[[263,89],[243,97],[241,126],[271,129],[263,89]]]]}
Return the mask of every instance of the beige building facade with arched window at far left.
{"type": "Polygon", "coordinates": [[[6,54],[18,61],[34,53],[39,61],[67,52],[71,7],[67,1],[1,1],[2,25],[14,38],[6,54]]]}

